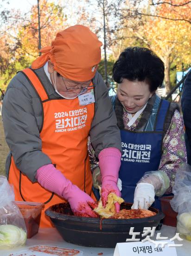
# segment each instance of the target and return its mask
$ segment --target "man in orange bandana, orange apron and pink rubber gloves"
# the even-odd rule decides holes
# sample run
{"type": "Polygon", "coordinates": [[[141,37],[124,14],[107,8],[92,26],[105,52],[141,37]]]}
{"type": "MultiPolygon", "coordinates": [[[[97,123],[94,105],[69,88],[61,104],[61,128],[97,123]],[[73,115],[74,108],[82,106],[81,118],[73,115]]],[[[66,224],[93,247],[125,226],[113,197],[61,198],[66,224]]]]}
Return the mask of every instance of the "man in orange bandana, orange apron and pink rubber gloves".
{"type": "MultiPolygon", "coordinates": [[[[67,200],[75,215],[96,217],[89,134],[100,160],[103,202],[111,191],[120,195],[120,131],[96,72],[101,46],[88,27],[69,27],[9,83],[3,123],[10,148],[6,175],[15,200],[45,202],[45,209],[67,200]]],[[[40,225],[51,225],[44,212],[40,225]]]]}

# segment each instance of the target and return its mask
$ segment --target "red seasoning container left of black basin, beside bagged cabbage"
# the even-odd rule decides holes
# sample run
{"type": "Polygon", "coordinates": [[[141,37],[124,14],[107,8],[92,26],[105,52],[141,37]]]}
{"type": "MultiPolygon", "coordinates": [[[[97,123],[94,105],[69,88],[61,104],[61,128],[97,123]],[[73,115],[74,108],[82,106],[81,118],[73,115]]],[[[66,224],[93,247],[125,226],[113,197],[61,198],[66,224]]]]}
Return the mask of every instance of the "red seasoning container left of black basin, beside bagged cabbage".
{"type": "Polygon", "coordinates": [[[44,203],[15,201],[15,204],[19,207],[25,220],[27,238],[31,238],[38,233],[40,216],[44,203]]]}

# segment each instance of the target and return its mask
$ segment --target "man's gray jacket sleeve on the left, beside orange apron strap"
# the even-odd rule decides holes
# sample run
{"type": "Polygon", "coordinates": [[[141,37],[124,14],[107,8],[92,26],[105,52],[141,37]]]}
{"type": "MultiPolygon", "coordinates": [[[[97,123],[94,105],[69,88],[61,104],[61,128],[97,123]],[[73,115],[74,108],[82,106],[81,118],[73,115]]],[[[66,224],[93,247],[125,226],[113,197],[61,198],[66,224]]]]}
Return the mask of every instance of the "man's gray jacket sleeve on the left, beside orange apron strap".
{"type": "MultiPolygon", "coordinates": [[[[9,84],[3,101],[3,125],[6,142],[17,168],[35,182],[37,169],[50,164],[51,159],[41,151],[42,141],[33,108],[39,99],[26,89],[27,83],[24,75],[17,74],[9,84]]],[[[28,87],[32,88],[30,85],[28,87]]],[[[39,109],[39,115],[41,112],[39,109]]]]}

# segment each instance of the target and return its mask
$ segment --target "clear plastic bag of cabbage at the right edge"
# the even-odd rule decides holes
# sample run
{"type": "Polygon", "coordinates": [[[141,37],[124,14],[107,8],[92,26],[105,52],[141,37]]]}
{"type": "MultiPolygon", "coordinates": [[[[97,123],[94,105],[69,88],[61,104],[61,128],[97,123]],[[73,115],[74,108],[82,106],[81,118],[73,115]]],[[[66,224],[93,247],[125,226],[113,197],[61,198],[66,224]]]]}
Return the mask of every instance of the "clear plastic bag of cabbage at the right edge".
{"type": "Polygon", "coordinates": [[[183,238],[191,240],[191,166],[184,164],[178,169],[175,184],[172,189],[174,194],[171,200],[172,209],[178,212],[177,232],[183,238]]]}

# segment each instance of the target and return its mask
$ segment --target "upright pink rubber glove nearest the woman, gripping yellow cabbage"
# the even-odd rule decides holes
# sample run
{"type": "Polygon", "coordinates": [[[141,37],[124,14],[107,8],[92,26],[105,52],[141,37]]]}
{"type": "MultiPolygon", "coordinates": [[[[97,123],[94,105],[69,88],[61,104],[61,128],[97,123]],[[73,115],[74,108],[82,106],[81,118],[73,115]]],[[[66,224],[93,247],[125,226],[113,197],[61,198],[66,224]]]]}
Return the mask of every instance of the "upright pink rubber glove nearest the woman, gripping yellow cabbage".
{"type": "MultiPolygon", "coordinates": [[[[121,197],[121,192],[117,187],[119,177],[119,169],[121,166],[121,151],[118,148],[105,148],[99,157],[100,172],[102,175],[102,204],[106,206],[109,193],[113,192],[121,197]]],[[[115,211],[118,213],[120,204],[115,203],[115,211]]]]}

